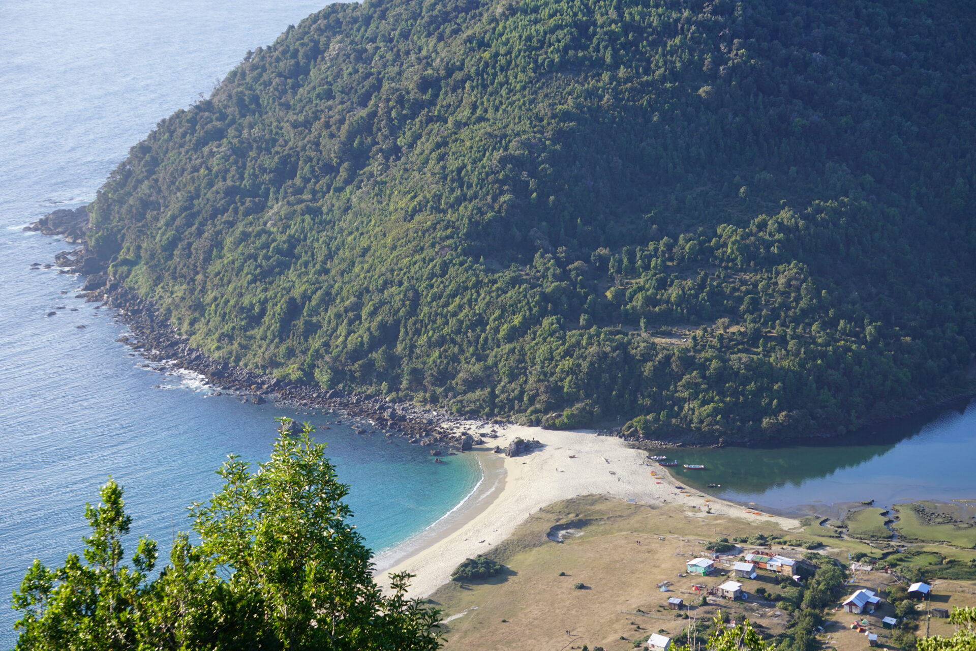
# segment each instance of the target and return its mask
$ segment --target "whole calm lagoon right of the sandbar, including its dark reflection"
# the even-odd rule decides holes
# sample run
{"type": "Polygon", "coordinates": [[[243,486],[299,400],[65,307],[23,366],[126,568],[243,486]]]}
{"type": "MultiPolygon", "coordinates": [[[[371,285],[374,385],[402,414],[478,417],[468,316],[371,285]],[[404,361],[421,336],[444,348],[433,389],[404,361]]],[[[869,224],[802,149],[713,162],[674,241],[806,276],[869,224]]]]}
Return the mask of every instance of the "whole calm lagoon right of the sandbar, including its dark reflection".
{"type": "Polygon", "coordinates": [[[669,468],[689,486],[740,502],[793,510],[799,505],[874,500],[976,499],[976,402],[933,411],[840,440],[778,448],[674,451],[669,468]],[[721,484],[708,488],[708,484],[721,484]]]}

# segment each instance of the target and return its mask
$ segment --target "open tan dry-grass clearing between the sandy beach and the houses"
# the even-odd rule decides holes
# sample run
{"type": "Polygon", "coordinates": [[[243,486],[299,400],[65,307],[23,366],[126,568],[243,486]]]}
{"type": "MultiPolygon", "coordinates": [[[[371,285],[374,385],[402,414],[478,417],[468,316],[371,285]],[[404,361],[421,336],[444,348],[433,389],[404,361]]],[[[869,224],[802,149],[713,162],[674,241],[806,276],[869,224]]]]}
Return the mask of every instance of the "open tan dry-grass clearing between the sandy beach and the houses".
{"type": "Polygon", "coordinates": [[[717,586],[727,580],[722,576],[726,570],[704,579],[678,575],[687,559],[705,552],[705,540],[781,532],[773,523],[763,527],[677,505],[648,507],[585,496],[534,514],[491,554],[508,565],[507,575],[451,583],[431,599],[448,620],[448,651],[542,651],[584,644],[621,651],[652,632],[675,635],[692,618],[711,621],[719,608],[732,618],[746,615],[776,633],[788,616],[771,603],[757,602],[752,593],[760,585],[774,589],[771,578],[741,580],[749,602],[712,596],[711,604],[701,607],[692,586],[717,586]],[[572,532],[565,542],[552,542],[547,534],[553,527],[572,532]],[[668,592],[657,588],[664,581],[672,583],[668,592]],[[577,583],[586,588],[575,589],[577,583]],[[667,610],[670,596],[684,598],[691,607],[679,613],[667,610]]]}

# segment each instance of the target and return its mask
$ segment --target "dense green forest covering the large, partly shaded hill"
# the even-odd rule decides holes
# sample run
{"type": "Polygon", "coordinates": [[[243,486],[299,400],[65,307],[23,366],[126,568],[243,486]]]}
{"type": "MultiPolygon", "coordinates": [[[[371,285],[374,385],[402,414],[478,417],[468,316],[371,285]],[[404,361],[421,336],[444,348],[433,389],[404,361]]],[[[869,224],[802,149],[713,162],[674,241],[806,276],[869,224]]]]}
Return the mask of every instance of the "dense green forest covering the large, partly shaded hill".
{"type": "Polygon", "coordinates": [[[845,432],[966,387],[963,0],[369,0],[159,123],[90,246],[194,345],[550,427],[845,432]]]}

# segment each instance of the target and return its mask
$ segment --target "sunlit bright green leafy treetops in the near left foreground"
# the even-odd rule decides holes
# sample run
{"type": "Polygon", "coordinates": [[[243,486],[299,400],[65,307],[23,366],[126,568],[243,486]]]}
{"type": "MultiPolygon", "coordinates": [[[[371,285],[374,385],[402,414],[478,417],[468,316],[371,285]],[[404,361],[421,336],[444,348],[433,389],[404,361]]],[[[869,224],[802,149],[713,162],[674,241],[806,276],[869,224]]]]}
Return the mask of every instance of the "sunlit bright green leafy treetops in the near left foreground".
{"type": "Polygon", "coordinates": [[[223,490],[191,507],[199,544],[179,534],[158,573],[145,537],[125,562],[132,518],[109,479],[85,510],[83,556],[35,560],[15,591],[18,651],[439,648],[438,613],[406,597],[410,575],[389,595],[374,584],[346,485],[310,433],[281,434],[257,471],[231,455],[223,490]]]}

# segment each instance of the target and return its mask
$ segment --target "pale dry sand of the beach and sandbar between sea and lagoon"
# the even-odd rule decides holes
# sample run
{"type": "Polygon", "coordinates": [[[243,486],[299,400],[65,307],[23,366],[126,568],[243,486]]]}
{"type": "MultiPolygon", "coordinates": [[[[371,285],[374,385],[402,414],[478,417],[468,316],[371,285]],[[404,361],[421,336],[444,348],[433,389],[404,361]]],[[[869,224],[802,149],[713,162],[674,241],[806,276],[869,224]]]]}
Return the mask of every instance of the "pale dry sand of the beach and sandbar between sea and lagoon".
{"type": "MultiPolygon", "coordinates": [[[[466,426],[473,429],[474,424],[466,426]]],[[[502,543],[530,512],[580,495],[632,498],[638,504],[667,501],[697,507],[703,517],[708,516],[706,508],[711,508],[712,513],[776,523],[787,529],[797,527],[789,518],[756,515],[711,496],[697,497],[699,491],[685,497],[674,489],[675,484],[681,484],[664,471],[666,468],[645,461],[645,453],[626,447],[617,437],[522,426],[508,426],[500,434],[497,439],[486,439],[486,445],[476,448],[481,451],[474,453],[481,455],[482,466],[487,468],[481,490],[420,539],[378,558],[378,583],[386,586],[389,573],[410,572],[417,575],[410,595],[427,596],[450,581],[451,572],[465,558],[502,543]],[[516,437],[535,438],[545,447],[514,458],[488,452],[495,445],[505,448],[516,437]],[[570,459],[570,455],[576,458],[570,459]],[[499,458],[504,470],[498,468],[499,461],[485,457],[499,458]],[[652,476],[651,470],[658,476],[652,476]]]]}

